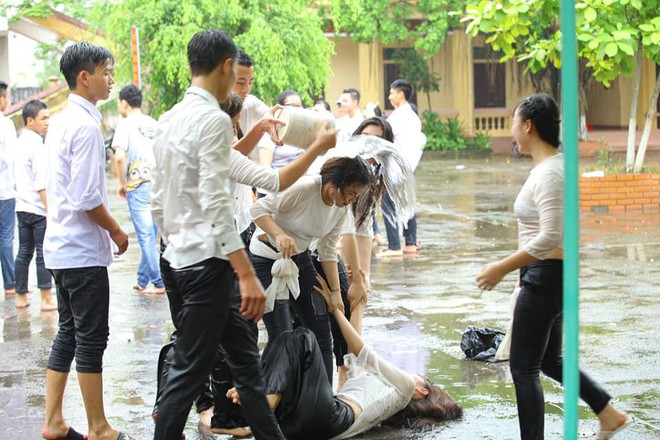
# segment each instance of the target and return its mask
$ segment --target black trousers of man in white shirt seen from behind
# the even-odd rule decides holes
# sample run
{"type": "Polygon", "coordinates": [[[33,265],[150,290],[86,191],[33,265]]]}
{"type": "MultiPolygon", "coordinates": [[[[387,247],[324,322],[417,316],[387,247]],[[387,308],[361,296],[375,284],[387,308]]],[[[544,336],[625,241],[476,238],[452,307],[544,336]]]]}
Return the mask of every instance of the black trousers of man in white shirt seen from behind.
{"type": "Polygon", "coordinates": [[[158,406],[155,439],[180,440],[193,399],[209,377],[218,344],[228,356],[245,418],[256,439],[282,439],[265,396],[254,332],[238,308],[238,290],[227,261],[211,258],[172,269],[161,258],[161,274],[177,323],[174,358],[158,406]]]}

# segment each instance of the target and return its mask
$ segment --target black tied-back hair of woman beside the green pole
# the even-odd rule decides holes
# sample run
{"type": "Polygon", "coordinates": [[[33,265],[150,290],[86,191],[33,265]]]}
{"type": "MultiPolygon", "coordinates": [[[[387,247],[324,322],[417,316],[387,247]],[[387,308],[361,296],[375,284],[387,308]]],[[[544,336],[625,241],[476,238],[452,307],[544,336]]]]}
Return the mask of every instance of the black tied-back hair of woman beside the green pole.
{"type": "Polygon", "coordinates": [[[539,137],[555,148],[559,148],[559,105],[550,95],[537,93],[528,96],[516,105],[513,114],[520,115],[521,121],[532,121],[539,137]]]}

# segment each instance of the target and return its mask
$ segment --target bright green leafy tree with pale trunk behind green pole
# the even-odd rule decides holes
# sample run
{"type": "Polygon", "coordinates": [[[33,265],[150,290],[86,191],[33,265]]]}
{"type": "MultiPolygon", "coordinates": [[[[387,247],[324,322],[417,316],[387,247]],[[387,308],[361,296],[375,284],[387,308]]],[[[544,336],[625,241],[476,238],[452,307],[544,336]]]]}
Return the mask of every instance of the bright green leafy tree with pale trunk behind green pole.
{"type": "MultiPolygon", "coordinates": [[[[462,21],[467,23],[466,32],[471,35],[486,34],[486,43],[495,50],[503,51],[501,61],[515,58],[525,63],[527,70],[534,74],[549,65],[554,69],[561,67],[558,3],[557,0],[482,0],[465,8],[462,21]]],[[[582,66],[581,126],[585,125],[584,96],[592,78],[609,86],[620,75],[633,76],[633,104],[626,155],[629,171],[633,171],[635,162],[634,133],[642,56],[656,64],[660,60],[659,7],[659,0],[583,0],[576,4],[578,56],[582,66]]],[[[658,87],[660,85],[656,84],[656,90],[658,87]]],[[[558,93],[553,95],[558,96],[558,93]]],[[[657,100],[657,94],[654,99],[657,100]]],[[[650,123],[648,113],[647,121],[650,123]]],[[[640,154],[643,162],[645,150],[646,146],[642,143],[637,162],[640,154]]],[[[634,168],[641,169],[641,163],[634,168]]]]}

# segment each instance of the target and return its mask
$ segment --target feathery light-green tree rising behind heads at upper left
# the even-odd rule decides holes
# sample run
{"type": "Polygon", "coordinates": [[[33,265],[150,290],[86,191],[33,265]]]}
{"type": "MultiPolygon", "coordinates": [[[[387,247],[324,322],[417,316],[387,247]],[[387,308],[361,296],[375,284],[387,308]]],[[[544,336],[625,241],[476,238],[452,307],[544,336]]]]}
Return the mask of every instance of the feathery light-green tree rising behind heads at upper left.
{"type": "Polygon", "coordinates": [[[117,76],[131,78],[130,28],[140,29],[143,82],[155,113],[170,108],[189,85],[186,46],[198,31],[226,30],[254,60],[255,93],[274,102],[285,89],[311,101],[330,76],[332,43],[309,0],[99,0],[91,22],[115,43],[117,76]]]}

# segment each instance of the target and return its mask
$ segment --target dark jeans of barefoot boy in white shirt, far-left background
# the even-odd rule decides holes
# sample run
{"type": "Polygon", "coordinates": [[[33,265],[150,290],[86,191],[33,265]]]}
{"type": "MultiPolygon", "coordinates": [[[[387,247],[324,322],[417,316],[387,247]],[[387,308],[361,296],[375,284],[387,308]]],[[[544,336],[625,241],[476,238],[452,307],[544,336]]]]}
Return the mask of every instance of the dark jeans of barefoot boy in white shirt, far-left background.
{"type": "Polygon", "coordinates": [[[37,285],[40,289],[52,287],[50,272],[44,265],[43,244],[46,233],[46,217],[31,212],[17,212],[18,254],[16,255],[16,293],[28,291],[28,269],[37,251],[37,285]]]}

